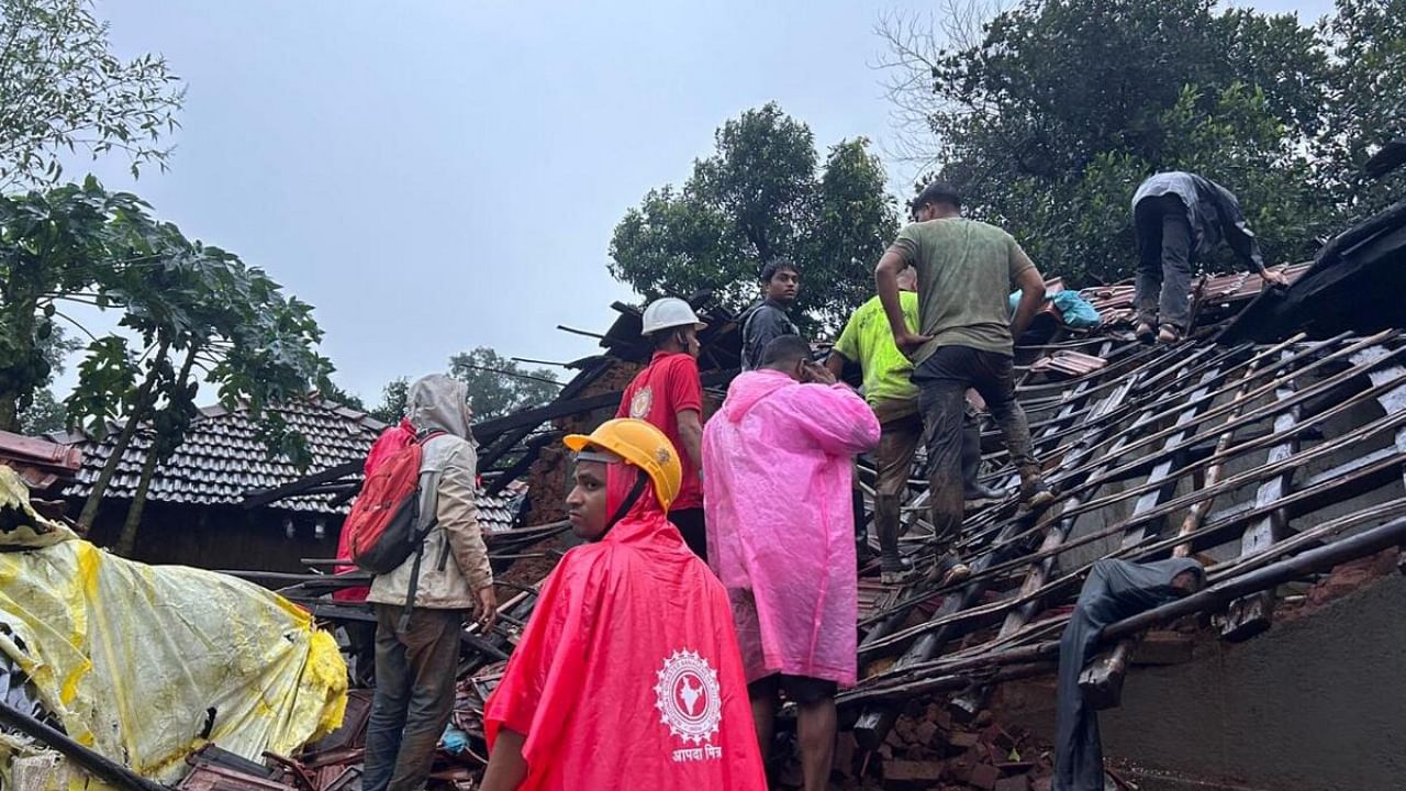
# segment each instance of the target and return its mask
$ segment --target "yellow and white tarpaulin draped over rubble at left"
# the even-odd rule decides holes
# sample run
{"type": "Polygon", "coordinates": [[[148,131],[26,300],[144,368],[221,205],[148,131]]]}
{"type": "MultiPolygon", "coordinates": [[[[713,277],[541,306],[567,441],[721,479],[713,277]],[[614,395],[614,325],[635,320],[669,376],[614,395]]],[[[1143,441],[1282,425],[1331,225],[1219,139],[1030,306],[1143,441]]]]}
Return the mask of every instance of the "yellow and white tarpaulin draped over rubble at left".
{"type": "Polygon", "coordinates": [[[0,466],[0,652],[75,740],[162,783],[207,742],[257,760],[333,730],[346,666],[264,588],[124,560],[48,522],[0,466]]]}

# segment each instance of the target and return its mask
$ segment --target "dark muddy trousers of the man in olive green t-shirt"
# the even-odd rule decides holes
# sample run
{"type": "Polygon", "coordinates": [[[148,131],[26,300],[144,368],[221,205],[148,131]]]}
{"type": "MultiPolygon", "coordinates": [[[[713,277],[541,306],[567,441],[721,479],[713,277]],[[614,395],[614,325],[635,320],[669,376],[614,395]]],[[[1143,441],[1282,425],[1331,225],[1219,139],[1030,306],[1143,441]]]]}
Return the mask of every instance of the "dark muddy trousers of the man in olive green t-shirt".
{"type": "Polygon", "coordinates": [[[924,442],[932,473],[928,479],[934,543],[938,553],[950,549],[962,532],[966,505],[962,487],[962,435],[966,422],[966,391],[976,388],[986,400],[1001,429],[1001,439],[1022,483],[1039,476],[1031,446],[1031,426],[1025,410],[1015,400],[1015,369],[1010,355],[939,346],[912,372],[918,386],[924,442]]]}

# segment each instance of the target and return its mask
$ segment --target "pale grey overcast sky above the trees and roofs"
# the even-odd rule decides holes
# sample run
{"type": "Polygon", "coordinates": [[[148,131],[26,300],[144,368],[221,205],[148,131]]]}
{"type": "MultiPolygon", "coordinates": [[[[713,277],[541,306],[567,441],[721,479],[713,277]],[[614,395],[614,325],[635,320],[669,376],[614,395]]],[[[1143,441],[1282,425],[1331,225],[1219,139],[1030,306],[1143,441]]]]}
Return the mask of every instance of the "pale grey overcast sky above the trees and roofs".
{"type": "Polygon", "coordinates": [[[820,146],[890,144],[873,27],[931,7],[100,0],[118,53],[184,77],[183,128],[169,173],[76,167],[316,305],[335,379],[374,403],[478,345],[593,353],[555,327],[609,327],[631,298],[606,272],[614,224],[724,120],[776,100],[820,146]]]}

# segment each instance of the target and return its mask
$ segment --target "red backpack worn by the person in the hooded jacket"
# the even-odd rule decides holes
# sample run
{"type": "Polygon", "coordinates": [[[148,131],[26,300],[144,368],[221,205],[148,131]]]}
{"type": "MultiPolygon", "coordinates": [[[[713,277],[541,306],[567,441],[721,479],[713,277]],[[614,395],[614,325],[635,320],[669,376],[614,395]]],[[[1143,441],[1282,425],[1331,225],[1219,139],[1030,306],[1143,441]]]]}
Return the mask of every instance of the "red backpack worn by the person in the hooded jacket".
{"type": "MultiPolygon", "coordinates": [[[[420,529],[420,462],[425,443],[444,434],[430,432],[409,442],[375,464],[361,486],[342,529],[349,535],[352,562],[364,571],[388,574],[413,553],[419,577],[419,555],[425,536],[434,529],[430,519],[420,529]]],[[[413,595],[413,594],[412,594],[413,595]]]]}

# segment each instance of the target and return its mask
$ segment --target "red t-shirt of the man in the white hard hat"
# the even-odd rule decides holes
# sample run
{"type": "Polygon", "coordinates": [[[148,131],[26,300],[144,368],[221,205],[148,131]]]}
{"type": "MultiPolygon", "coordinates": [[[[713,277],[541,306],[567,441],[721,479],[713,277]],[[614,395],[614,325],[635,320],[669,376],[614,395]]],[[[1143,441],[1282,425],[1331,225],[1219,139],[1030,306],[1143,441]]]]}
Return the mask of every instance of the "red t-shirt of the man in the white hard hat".
{"type": "Polygon", "coordinates": [[[630,387],[620,398],[617,418],[638,418],[654,424],[675,450],[683,464],[683,483],[679,495],[673,498],[671,511],[703,507],[703,481],[693,459],[679,442],[679,411],[697,410],[703,419],[703,383],[699,380],[699,363],[683,352],[655,352],[630,387]]]}

